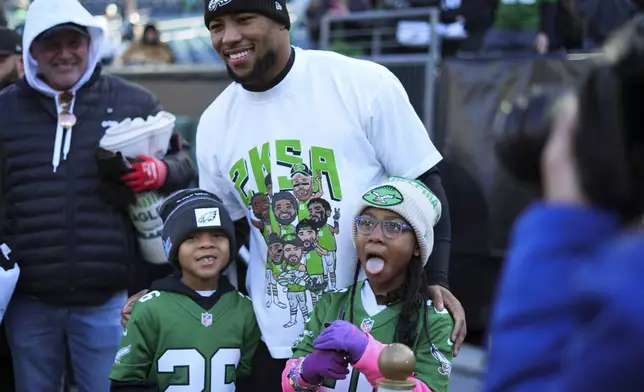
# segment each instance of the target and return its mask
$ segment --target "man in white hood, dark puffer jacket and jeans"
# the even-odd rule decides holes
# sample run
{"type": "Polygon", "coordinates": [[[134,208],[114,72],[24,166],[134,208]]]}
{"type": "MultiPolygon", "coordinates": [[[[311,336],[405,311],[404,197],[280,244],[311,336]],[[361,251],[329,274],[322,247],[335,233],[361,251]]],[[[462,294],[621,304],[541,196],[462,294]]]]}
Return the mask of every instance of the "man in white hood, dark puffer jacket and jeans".
{"type": "MultiPolygon", "coordinates": [[[[0,238],[21,269],[4,318],[18,392],[57,391],[67,350],[80,392],[109,390],[139,258],[95,154],[109,124],[160,107],[143,88],[101,74],[96,23],[77,0],[34,1],[25,78],[0,93],[0,238]]],[[[194,177],[185,151],[138,158],[122,180],[132,192],[169,193],[194,177]]]]}

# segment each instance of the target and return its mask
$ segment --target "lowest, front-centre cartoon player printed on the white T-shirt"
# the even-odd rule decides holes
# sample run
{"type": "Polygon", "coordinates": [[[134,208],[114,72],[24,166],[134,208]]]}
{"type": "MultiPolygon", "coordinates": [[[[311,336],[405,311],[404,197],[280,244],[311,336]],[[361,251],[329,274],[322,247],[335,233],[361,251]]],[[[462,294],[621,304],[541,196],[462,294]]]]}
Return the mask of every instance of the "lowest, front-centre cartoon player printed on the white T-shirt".
{"type": "Polygon", "coordinates": [[[290,311],[290,319],[284,324],[284,328],[290,328],[297,324],[297,311],[302,313],[302,319],[309,317],[309,308],[306,303],[306,287],[310,285],[311,278],[302,264],[304,256],[302,241],[293,234],[282,238],[284,243],[284,266],[277,281],[286,286],[286,298],[290,311]]]}

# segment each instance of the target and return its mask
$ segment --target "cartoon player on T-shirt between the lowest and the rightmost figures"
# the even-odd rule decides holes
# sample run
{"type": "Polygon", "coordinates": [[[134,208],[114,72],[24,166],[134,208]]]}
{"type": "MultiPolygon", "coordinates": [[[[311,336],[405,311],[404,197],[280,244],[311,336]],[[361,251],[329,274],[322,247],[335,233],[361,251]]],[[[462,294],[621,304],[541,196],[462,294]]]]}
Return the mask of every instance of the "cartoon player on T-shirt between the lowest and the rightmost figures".
{"type": "Polygon", "coordinates": [[[298,222],[295,230],[302,241],[302,249],[305,252],[304,265],[306,266],[306,272],[311,277],[307,288],[311,291],[311,301],[315,305],[320,296],[324,294],[324,289],[327,286],[327,280],[324,278],[324,261],[322,257],[329,252],[318,245],[318,227],[313,221],[303,219],[298,222]]]}

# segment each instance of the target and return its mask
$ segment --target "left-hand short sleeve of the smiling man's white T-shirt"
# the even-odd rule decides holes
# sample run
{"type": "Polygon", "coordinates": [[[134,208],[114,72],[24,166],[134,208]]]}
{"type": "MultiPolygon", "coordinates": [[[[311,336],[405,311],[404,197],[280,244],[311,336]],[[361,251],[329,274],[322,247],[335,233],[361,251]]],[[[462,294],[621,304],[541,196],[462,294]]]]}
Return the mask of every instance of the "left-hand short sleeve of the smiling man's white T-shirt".
{"type": "Polygon", "coordinates": [[[197,167],[199,169],[199,188],[212,192],[219,196],[224,202],[232,220],[246,217],[246,209],[241,201],[235,197],[230,180],[222,174],[215,151],[212,150],[213,143],[209,142],[212,137],[212,130],[205,124],[212,122],[204,120],[202,116],[197,126],[196,148],[197,167]]]}

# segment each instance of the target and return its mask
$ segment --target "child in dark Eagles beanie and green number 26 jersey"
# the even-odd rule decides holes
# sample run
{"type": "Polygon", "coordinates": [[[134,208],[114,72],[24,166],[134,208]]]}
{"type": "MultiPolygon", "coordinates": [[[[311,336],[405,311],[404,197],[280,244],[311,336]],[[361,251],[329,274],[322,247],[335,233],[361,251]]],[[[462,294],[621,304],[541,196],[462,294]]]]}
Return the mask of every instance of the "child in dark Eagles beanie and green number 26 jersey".
{"type": "Polygon", "coordinates": [[[250,300],[222,274],[236,249],[228,211],[212,193],[187,189],[168,197],[159,215],[168,261],[179,271],[154,282],[132,309],[111,390],[249,390],[260,332],[250,300]]]}

